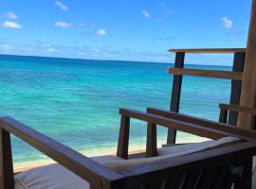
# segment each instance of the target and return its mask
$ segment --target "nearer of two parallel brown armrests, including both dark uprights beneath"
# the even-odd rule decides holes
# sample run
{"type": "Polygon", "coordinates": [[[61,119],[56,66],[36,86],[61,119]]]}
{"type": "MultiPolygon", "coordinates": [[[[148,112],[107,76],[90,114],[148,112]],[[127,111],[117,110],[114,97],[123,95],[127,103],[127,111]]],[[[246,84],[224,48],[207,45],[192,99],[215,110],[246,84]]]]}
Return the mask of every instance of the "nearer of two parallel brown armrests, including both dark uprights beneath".
{"type": "Polygon", "coordinates": [[[120,109],[119,113],[121,114],[121,124],[119,129],[119,146],[117,156],[123,159],[128,159],[131,118],[135,118],[148,123],[146,147],[146,154],[148,157],[155,156],[157,154],[156,125],[170,129],[177,129],[180,131],[188,132],[201,137],[207,137],[210,139],[220,139],[222,137],[227,136],[234,136],[242,139],[247,139],[247,137],[243,137],[236,133],[229,132],[229,130],[218,130],[217,128],[210,128],[204,125],[186,122],[182,119],[175,119],[174,117],[166,117],[149,112],[137,112],[125,109],[120,109]]]}

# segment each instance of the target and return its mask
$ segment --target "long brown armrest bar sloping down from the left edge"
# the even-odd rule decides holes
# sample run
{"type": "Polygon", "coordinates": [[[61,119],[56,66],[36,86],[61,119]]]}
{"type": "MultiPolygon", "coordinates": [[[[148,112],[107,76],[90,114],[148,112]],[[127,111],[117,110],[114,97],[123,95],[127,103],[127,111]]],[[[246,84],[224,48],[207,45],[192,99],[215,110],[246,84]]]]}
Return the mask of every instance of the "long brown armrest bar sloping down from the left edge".
{"type": "Polygon", "coordinates": [[[92,161],[73,149],[34,129],[28,128],[10,117],[0,119],[0,129],[17,136],[30,146],[34,146],[83,180],[90,182],[95,188],[110,188],[115,180],[123,178],[118,172],[92,161]]]}

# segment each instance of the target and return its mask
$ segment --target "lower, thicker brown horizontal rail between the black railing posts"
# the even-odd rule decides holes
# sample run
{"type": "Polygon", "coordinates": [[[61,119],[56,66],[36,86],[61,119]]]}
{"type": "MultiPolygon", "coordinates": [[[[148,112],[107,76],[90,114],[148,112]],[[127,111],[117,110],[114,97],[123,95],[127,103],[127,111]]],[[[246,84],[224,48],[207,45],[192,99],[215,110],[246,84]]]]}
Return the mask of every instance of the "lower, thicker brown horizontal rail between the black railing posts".
{"type": "Polygon", "coordinates": [[[168,74],[173,75],[186,75],[194,77],[213,77],[225,78],[232,80],[242,80],[243,72],[229,72],[219,70],[199,70],[199,69],[186,69],[186,68],[168,68],[168,74]]]}

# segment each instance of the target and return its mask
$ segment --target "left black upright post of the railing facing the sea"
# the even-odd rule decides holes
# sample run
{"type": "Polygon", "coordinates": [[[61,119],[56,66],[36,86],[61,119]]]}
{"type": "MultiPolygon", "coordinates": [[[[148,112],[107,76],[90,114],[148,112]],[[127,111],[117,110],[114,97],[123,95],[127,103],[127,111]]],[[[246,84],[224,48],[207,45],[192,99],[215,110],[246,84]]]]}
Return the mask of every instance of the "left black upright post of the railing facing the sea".
{"type": "MultiPolygon", "coordinates": [[[[183,68],[184,60],[185,60],[185,53],[183,52],[176,53],[174,67],[183,68]]],[[[174,75],[173,90],[172,90],[172,96],[171,96],[171,107],[170,107],[170,111],[172,112],[179,112],[181,85],[182,85],[182,76],[174,75]]],[[[175,144],[175,141],[176,141],[176,130],[168,129],[167,144],[175,144]]]]}

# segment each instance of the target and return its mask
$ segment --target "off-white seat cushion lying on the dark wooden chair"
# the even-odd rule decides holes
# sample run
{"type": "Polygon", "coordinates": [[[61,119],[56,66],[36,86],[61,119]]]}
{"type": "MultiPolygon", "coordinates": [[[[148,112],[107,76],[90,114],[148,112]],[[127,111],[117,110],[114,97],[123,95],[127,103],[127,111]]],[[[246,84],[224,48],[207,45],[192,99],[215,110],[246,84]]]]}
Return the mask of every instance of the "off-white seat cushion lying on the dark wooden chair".
{"type": "MultiPolygon", "coordinates": [[[[170,159],[236,141],[239,141],[239,139],[225,137],[217,141],[210,140],[199,144],[163,147],[158,149],[159,156],[154,158],[123,160],[115,156],[101,156],[92,159],[112,169],[119,170],[128,166],[153,163],[155,161],[170,159]]],[[[58,163],[30,169],[15,176],[15,189],[47,188],[89,189],[89,183],[58,163]]]]}

